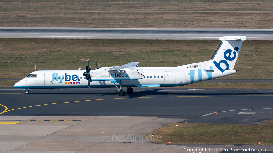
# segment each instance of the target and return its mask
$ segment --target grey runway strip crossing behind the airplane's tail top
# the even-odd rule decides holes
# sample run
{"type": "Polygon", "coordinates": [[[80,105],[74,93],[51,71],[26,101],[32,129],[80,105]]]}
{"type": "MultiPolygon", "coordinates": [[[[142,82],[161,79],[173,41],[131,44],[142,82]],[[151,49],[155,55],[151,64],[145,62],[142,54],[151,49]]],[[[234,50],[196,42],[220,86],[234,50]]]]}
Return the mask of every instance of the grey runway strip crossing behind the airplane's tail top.
{"type": "Polygon", "coordinates": [[[273,29],[0,27],[0,38],[218,40],[230,35],[273,40],[273,29]]]}

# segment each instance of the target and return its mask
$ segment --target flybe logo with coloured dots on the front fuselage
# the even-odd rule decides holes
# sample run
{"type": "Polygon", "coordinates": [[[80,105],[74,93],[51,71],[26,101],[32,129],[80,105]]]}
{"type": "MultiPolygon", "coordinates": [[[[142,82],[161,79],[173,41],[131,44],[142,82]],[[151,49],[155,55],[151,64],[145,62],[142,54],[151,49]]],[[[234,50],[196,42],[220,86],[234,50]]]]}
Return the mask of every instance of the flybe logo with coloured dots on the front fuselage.
{"type": "Polygon", "coordinates": [[[79,77],[74,74],[72,76],[67,75],[65,73],[65,75],[59,75],[58,73],[53,73],[52,75],[52,82],[57,81],[59,83],[62,83],[62,81],[65,81],[65,84],[80,84],[81,82],[79,82],[81,79],[79,79],[79,77]]]}

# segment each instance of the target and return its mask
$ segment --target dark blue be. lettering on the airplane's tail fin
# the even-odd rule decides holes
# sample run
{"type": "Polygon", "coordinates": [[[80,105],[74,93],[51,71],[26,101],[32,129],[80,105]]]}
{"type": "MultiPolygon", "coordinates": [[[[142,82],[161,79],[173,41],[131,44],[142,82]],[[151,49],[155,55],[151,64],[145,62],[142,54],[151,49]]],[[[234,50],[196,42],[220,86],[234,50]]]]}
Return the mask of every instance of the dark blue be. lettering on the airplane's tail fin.
{"type": "MultiPolygon", "coordinates": [[[[238,47],[235,47],[234,48],[236,51],[239,50],[238,47]]],[[[231,49],[227,49],[225,52],[224,52],[224,58],[228,61],[233,61],[235,60],[237,54],[236,54],[236,51],[233,52],[233,57],[231,57],[231,53],[232,53],[232,50],[231,49]],[[228,54],[228,56],[227,56],[228,54]]],[[[225,70],[228,70],[229,69],[229,64],[226,60],[220,60],[219,63],[217,63],[215,60],[213,61],[214,65],[218,68],[218,70],[220,70],[222,73],[225,71],[225,70]],[[224,63],[226,65],[226,68],[223,69],[220,64],[221,63],[224,63]]]]}

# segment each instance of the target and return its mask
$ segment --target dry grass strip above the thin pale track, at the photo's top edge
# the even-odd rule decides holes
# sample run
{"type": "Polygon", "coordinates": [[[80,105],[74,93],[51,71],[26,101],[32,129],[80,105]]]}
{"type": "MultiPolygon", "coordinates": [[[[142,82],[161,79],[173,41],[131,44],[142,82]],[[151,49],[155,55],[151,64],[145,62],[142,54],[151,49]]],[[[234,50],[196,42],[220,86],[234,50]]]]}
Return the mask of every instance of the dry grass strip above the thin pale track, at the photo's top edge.
{"type": "Polygon", "coordinates": [[[1,2],[0,11],[272,11],[268,0],[169,1],[97,0],[98,2],[1,2]],[[103,2],[103,3],[99,3],[103,2]]]}

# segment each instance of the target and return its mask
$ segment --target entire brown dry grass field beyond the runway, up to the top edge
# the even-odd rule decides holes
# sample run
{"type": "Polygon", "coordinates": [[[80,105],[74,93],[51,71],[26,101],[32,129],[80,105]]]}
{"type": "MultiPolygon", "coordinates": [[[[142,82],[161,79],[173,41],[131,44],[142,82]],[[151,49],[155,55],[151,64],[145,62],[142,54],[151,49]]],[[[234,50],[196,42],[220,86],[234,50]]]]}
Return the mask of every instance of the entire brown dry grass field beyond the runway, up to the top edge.
{"type": "Polygon", "coordinates": [[[0,2],[0,11],[2,11],[0,12],[0,26],[122,28],[272,28],[272,13],[236,12],[238,10],[272,11],[272,7],[272,2],[266,0],[234,2],[215,2],[203,0],[197,0],[193,2],[149,2],[148,0],[145,0],[134,2],[116,1],[104,3],[0,2]],[[179,12],[181,10],[204,12],[179,12]]]}

